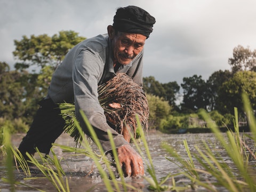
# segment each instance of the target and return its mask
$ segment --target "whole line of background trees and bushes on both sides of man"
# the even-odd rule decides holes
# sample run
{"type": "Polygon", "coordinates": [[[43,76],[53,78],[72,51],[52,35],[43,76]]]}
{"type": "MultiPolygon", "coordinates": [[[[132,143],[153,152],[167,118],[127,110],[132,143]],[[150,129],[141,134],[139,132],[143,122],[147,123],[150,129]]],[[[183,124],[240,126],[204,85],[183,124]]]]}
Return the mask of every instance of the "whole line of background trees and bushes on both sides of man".
{"type": "MultiPolygon", "coordinates": [[[[8,63],[0,62],[0,126],[10,124],[13,132],[26,129],[36,113],[37,102],[47,93],[54,70],[71,47],[84,39],[69,30],[51,37],[43,34],[14,40],[15,69],[10,70],[8,63]]],[[[206,81],[201,75],[193,75],[183,77],[179,85],[175,81],[160,83],[153,76],[143,77],[150,109],[149,126],[154,129],[189,126],[193,114],[201,109],[213,117],[230,117],[237,107],[242,117],[242,92],[247,93],[255,109],[256,50],[238,45],[228,63],[231,70],[214,71],[206,81]],[[177,104],[181,96],[182,101],[177,104]]]]}

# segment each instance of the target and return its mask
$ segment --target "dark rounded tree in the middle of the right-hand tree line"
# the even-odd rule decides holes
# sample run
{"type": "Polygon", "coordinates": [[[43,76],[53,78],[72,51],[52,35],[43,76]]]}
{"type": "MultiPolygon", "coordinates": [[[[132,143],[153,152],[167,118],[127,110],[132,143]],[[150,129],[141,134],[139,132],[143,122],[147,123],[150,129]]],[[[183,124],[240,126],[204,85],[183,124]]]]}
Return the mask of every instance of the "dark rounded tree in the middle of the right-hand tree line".
{"type": "Polygon", "coordinates": [[[199,108],[206,109],[209,105],[207,100],[207,87],[202,76],[184,77],[181,84],[183,89],[183,101],[181,107],[183,111],[196,111],[199,108]]]}

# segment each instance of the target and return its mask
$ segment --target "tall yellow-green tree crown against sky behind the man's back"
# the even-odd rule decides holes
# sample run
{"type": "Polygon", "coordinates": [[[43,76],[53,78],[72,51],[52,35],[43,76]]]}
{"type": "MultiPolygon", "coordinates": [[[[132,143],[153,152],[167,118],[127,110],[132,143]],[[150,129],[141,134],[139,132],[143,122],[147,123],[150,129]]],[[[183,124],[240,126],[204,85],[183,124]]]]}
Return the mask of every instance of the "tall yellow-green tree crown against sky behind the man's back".
{"type": "Polygon", "coordinates": [[[49,37],[43,35],[31,35],[30,38],[22,36],[21,41],[14,40],[14,58],[18,60],[15,68],[22,70],[31,66],[42,69],[46,65],[58,67],[67,52],[85,37],[78,36],[75,31],[60,31],[49,37]]]}

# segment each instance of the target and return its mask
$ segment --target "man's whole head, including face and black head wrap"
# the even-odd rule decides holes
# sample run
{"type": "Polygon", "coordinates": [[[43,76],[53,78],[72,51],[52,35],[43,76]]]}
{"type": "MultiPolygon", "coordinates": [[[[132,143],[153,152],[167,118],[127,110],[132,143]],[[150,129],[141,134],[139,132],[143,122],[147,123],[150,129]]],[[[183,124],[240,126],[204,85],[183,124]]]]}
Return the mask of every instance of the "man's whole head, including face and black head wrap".
{"type": "Polygon", "coordinates": [[[108,26],[114,60],[122,65],[129,64],[143,50],[155,22],[155,18],[140,7],[117,9],[113,26],[108,26]]]}

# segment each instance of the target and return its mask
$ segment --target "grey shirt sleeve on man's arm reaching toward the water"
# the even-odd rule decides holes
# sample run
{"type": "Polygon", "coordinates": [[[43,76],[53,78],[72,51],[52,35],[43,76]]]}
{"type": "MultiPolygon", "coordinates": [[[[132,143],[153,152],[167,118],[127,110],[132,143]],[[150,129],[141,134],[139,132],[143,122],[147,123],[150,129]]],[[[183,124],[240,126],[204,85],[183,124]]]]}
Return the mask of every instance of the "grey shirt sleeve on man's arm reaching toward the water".
{"type": "Polygon", "coordinates": [[[98,53],[90,49],[82,50],[75,60],[73,68],[74,99],[76,117],[84,132],[90,133],[79,113],[82,109],[90,124],[93,126],[98,139],[105,151],[111,150],[107,130],[113,134],[116,147],[127,145],[123,135],[113,130],[106,121],[104,110],[98,100],[98,81],[104,65],[98,53]]]}

